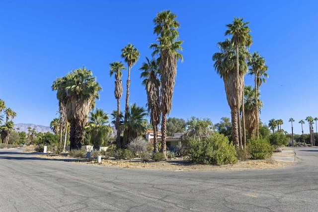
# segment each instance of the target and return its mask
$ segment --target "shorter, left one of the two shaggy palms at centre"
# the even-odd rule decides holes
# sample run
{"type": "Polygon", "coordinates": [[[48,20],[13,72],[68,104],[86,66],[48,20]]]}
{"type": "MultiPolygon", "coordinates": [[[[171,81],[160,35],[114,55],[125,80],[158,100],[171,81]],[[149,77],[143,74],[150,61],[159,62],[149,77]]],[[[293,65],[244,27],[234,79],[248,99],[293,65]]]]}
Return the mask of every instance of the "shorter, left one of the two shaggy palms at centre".
{"type": "Polygon", "coordinates": [[[141,78],[144,78],[142,84],[146,88],[147,106],[150,112],[150,123],[154,130],[154,152],[158,152],[158,125],[160,123],[160,81],[158,79],[159,63],[158,60],[151,61],[146,57],[147,63],[143,63],[140,70],[141,78]]]}

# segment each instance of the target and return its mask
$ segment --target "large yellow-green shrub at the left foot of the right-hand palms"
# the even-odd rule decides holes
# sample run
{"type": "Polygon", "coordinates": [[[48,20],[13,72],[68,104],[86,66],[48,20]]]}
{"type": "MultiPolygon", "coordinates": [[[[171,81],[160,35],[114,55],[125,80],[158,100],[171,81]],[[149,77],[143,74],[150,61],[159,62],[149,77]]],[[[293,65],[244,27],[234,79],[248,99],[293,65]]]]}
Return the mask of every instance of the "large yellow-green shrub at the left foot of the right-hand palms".
{"type": "Polygon", "coordinates": [[[189,160],[193,163],[222,165],[238,162],[237,152],[228,137],[212,133],[208,139],[189,139],[189,160]]]}

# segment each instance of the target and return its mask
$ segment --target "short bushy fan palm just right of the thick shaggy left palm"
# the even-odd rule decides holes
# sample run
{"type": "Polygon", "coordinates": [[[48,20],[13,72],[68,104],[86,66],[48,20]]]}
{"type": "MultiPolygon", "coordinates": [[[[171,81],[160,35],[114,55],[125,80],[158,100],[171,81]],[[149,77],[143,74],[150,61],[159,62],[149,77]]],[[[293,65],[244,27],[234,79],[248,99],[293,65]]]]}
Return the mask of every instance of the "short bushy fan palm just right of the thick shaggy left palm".
{"type": "Polygon", "coordinates": [[[93,149],[99,151],[101,144],[105,138],[110,135],[111,127],[107,125],[108,114],[102,109],[96,108],[95,111],[90,112],[89,122],[85,129],[90,132],[90,142],[93,144],[93,149]]]}

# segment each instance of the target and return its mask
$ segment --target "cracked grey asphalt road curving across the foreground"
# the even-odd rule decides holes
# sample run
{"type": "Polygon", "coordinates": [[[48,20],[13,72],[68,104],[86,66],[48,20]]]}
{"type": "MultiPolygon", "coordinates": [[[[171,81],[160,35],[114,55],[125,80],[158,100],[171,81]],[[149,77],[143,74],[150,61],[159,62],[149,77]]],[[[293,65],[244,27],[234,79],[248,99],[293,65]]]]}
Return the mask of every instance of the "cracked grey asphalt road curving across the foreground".
{"type": "Polygon", "coordinates": [[[317,212],[318,147],[272,170],[107,168],[0,149],[1,212],[317,212]]]}

